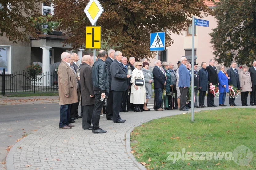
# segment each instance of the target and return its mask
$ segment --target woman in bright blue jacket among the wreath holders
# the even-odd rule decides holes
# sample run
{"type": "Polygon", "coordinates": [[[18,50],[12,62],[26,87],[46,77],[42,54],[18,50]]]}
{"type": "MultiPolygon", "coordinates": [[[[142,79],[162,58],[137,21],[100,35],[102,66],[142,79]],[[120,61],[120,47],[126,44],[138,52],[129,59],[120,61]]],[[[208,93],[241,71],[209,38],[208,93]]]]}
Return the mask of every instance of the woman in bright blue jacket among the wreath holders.
{"type": "Polygon", "coordinates": [[[226,74],[225,67],[223,65],[219,66],[219,73],[218,73],[218,78],[219,78],[219,106],[227,106],[225,105],[225,98],[226,98],[226,93],[228,92],[228,82],[230,81],[230,78],[226,74]]]}

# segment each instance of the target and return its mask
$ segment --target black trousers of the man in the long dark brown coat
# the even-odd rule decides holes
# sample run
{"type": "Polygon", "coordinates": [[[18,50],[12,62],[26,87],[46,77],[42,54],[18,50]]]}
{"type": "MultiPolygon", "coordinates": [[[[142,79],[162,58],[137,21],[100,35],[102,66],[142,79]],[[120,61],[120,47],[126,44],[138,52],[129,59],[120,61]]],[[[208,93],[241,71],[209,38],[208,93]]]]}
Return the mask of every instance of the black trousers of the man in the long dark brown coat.
{"type": "Polygon", "coordinates": [[[92,127],[92,113],[94,104],[89,106],[82,106],[83,108],[83,129],[89,129],[92,127]]]}

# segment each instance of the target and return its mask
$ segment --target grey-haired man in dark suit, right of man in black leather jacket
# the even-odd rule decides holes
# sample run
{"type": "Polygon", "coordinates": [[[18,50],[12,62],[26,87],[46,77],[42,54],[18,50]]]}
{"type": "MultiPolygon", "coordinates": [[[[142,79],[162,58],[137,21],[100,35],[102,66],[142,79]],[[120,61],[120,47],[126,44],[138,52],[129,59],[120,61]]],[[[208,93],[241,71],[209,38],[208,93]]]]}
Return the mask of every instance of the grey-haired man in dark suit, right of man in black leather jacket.
{"type": "Polygon", "coordinates": [[[110,72],[112,76],[111,80],[111,90],[113,91],[113,121],[114,123],[124,123],[120,113],[120,104],[122,100],[122,94],[124,91],[128,90],[128,78],[131,75],[127,75],[124,67],[122,66],[122,53],[116,51],[114,54],[115,60],[110,65],[110,72]]]}

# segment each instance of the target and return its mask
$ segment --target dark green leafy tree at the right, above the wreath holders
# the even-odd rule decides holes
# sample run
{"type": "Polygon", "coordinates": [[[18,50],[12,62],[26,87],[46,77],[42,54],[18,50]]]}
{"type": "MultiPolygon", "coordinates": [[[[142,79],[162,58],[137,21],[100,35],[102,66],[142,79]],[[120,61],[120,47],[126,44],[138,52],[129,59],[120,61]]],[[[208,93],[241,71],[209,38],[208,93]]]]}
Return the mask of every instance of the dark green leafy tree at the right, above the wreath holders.
{"type": "Polygon", "coordinates": [[[218,26],[210,33],[215,60],[250,66],[256,53],[256,0],[221,0],[217,5],[218,26]]]}

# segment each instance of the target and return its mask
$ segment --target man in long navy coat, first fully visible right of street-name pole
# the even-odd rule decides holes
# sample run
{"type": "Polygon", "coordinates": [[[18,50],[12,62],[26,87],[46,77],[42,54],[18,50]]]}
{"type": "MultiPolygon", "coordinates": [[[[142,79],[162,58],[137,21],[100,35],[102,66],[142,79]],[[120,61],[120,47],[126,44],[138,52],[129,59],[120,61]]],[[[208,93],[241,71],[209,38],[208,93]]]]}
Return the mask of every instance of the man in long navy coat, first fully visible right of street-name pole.
{"type": "Polygon", "coordinates": [[[206,70],[207,64],[206,62],[202,62],[202,68],[198,72],[199,76],[199,107],[205,108],[204,98],[206,91],[208,90],[208,72],[206,70]]]}

